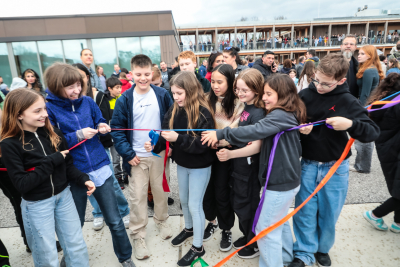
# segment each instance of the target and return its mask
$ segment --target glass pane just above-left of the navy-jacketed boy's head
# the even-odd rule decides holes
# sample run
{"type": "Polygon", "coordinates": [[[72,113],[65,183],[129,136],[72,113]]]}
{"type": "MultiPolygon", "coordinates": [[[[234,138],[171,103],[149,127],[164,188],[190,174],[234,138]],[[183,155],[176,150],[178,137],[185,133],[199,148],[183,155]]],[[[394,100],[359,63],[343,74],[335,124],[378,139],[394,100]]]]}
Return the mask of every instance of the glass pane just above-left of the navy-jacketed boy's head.
{"type": "Polygon", "coordinates": [[[131,69],[131,59],[140,54],[140,37],[117,38],[118,58],[121,68],[131,69]]]}

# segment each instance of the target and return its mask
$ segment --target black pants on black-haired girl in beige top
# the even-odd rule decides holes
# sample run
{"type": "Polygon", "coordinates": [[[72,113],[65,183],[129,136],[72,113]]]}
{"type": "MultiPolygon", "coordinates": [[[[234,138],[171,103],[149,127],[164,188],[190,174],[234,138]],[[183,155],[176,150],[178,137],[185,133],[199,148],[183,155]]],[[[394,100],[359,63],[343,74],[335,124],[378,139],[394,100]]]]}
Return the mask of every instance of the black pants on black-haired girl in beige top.
{"type": "Polygon", "coordinates": [[[230,230],[235,223],[231,204],[231,161],[216,159],[211,167],[211,177],[203,199],[203,209],[208,221],[218,219],[219,228],[230,230]]]}

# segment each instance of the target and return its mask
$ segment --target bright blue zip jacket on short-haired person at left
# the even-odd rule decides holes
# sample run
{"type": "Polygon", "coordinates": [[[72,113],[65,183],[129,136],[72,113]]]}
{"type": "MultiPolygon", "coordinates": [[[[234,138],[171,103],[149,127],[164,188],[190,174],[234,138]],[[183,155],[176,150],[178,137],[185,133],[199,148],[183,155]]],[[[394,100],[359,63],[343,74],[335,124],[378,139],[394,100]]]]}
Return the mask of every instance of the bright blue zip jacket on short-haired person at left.
{"type": "MultiPolygon", "coordinates": [[[[60,98],[49,90],[47,92],[47,113],[51,124],[59,128],[67,140],[68,146],[78,143],[76,131],[90,127],[97,129],[99,123],[107,123],[99,107],[88,96],[76,100],[60,98]]],[[[109,165],[107,153],[100,142],[99,135],[87,140],[70,151],[74,165],[82,172],[89,173],[109,165]]]]}

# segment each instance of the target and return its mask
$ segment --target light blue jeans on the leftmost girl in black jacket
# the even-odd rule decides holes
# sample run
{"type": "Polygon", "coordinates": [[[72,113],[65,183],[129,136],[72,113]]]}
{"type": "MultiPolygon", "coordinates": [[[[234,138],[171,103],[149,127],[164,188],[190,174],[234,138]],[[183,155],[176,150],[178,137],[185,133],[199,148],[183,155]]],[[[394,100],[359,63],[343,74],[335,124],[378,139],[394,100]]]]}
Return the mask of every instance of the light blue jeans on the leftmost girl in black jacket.
{"type": "Polygon", "coordinates": [[[89,266],[89,255],[69,186],[58,195],[21,202],[26,239],[36,267],[58,267],[58,240],[67,266],[89,266]]]}

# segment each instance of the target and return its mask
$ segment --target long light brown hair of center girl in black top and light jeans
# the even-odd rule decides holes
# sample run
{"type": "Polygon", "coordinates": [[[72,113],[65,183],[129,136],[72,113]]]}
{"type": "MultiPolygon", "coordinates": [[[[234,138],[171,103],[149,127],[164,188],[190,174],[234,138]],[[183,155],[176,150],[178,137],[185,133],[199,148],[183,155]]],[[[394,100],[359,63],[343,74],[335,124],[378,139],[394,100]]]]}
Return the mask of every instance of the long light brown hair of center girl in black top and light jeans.
{"type": "MultiPolygon", "coordinates": [[[[179,89],[185,90],[185,106],[184,109],[188,118],[188,129],[196,129],[197,122],[199,121],[200,116],[204,116],[200,112],[200,106],[208,109],[211,115],[214,117],[213,109],[210,107],[208,101],[205,99],[203,87],[200,82],[197,80],[194,73],[188,71],[178,72],[175,76],[172,77],[169,84],[172,86],[176,86],[179,89]]],[[[171,119],[169,120],[169,128],[174,128],[174,118],[175,115],[179,112],[179,105],[174,102],[171,119]]],[[[196,135],[193,132],[193,135],[196,135]]]]}

